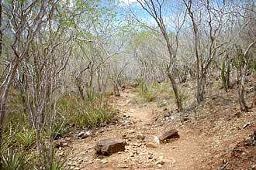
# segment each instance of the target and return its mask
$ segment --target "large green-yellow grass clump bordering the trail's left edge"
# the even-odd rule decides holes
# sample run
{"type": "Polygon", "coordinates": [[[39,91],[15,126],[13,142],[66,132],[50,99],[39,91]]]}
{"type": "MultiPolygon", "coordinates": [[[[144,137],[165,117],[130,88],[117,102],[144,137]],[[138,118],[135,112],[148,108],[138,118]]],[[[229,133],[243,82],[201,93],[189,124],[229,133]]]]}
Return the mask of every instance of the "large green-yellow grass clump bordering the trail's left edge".
{"type": "Polygon", "coordinates": [[[112,117],[113,110],[107,104],[102,104],[101,95],[90,93],[86,100],[74,96],[63,97],[59,102],[59,112],[68,124],[85,128],[105,124],[112,117]]]}

